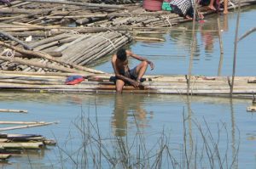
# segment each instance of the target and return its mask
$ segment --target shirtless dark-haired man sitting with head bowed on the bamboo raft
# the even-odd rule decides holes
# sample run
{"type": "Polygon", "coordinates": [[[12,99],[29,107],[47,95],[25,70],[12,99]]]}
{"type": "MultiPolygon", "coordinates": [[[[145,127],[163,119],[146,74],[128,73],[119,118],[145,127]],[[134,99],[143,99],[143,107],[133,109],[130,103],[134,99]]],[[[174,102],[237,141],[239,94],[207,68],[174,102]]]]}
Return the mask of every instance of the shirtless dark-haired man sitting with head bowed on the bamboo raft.
{"type": "Polygon", "coordinates": [[[144,59],[137,54],[132,54],[131,51],[125,50],[125,48],[120,48],[117,51],[117,54],[113,54],[112,57],[112,66],[113,71],[116,76],[116,91],[117,93],[122,93],[125,82],[130,83],[133,87],[137,88],[141,86],[141,78],[145,74],[148,64],[151,67],[151,70],[154,69],[153,62],[148,59],[144,59]],[[138,59],[142,61],[135,68],[131,69],[128,66],[128,57],[138,59]]]}

